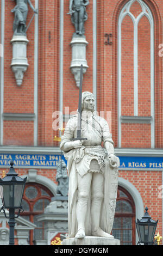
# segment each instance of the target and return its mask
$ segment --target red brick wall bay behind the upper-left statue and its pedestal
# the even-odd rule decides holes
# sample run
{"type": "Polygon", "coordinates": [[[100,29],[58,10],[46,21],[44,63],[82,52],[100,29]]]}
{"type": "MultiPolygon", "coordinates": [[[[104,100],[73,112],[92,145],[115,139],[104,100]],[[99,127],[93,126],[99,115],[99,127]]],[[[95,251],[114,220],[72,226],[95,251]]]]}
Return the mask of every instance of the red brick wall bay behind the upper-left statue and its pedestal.
{"type": "MultiPolygon", "coordinates": [[[[34,4],[34,0],[32,3],[34,4]]],[[[5,44],[4,44],[4,113],[33,113],[34,112],[34,22],[31,23],[27,38],[27,58],[29,67],[24,74],[21,87],[16,85],[15,75],[10,68],[12,60],[12,24],[14,14],[11,9],[15,2],[5,1],[5,44]]],[[[27,25],[33,11],[29,8],[27,25]]],[[[32,122],[33,123],[33,122],[32,122]]],[[[31,122],[4,121],[4,145],[33,145],[33,124],[31,122]],[[12,124],[11,124],[12,123],[12,124]],[[15,127],[14,127],[15,125],[15,127]],[[28,129],[30,131],[28,131],[28,129]],[[16,132],[21,131],[20,133],[16,132]]]]}

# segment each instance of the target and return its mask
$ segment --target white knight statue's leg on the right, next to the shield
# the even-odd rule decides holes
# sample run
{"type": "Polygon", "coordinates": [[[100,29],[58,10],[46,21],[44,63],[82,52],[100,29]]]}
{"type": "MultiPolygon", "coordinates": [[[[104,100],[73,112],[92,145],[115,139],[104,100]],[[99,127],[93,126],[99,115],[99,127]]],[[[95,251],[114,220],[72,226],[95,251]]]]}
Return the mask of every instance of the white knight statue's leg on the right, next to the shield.
{"type": "Polygon", "coordinates": [[[92,177],[92,204],[91,204],[91,218],[92,218],[92,235],[114,238],[114,236],[104,232],[100,228],[101,207],[104,200],[104,176],[101,173],[93,173],[92,177]]]}

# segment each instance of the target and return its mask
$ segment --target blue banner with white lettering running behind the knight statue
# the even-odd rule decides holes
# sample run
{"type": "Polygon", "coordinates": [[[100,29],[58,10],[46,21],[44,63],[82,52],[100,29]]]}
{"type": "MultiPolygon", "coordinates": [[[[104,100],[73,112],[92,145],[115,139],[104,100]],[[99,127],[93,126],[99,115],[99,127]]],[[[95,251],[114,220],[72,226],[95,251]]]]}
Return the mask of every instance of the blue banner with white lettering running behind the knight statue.
{"type": "MultiPolygon", "coordinates": [[[[118,156],[118,155],[117,155],[118,156]]],[[[163,170],[163,157],[118,156],[120,169],[158,169],[163,170]]],[[[64,155],[41,154],[0,154],[0,167],[9,167],[10,161],[15,168],[49,168],[56,169],[64,155]]]]}

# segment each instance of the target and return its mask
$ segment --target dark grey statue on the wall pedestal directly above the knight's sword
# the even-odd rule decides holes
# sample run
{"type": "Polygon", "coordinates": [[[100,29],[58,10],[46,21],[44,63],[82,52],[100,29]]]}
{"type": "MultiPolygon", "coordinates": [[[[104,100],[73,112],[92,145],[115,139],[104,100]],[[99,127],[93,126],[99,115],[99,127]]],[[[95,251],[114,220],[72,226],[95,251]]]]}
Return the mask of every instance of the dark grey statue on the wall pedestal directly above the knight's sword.
{"type": "Polygon", "coordinates": [[[76,29],[76,34],[83,35],[84,22],[87,20],[86,5],[89,0],[70,0],[71,21],[76,29]]]}

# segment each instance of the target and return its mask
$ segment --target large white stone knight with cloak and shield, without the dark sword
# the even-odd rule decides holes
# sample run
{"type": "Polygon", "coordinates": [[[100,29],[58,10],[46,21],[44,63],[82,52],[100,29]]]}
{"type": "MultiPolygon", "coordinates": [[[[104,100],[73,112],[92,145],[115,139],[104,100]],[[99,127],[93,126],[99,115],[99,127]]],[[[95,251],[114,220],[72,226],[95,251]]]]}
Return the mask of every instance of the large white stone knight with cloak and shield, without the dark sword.
{"type": "Polygon", "coordinates": [[[93,112],[94,106],[93,94],[82,93],[81,137],[87,140],[72,141],[77,137],[77,115],[70,118],[61,137],[60,148],[67,159],[70,179],[70,238],[82,239],[85,235],[114,238],[110,233],[114,222],[120,160],[114,154],[108,122],[93,112]]]}

